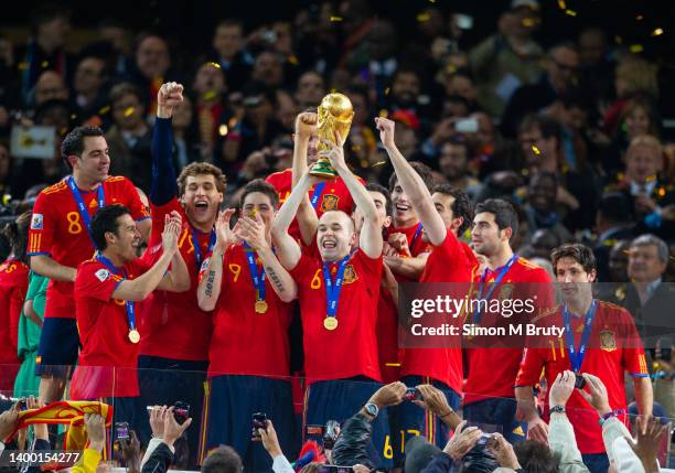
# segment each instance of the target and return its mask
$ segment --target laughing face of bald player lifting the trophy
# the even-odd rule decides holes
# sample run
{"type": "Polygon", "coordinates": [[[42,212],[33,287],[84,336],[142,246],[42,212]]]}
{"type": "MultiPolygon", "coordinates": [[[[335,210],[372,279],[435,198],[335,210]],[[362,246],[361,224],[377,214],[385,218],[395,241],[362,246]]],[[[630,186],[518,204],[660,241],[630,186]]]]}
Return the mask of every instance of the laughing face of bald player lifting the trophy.
{"type": "Polygon", "coordinates": [[[317,228],[317,244],[323,261],[344,258],[356,243],[354,222],[341,211],[321,215],[317,228]]]}

